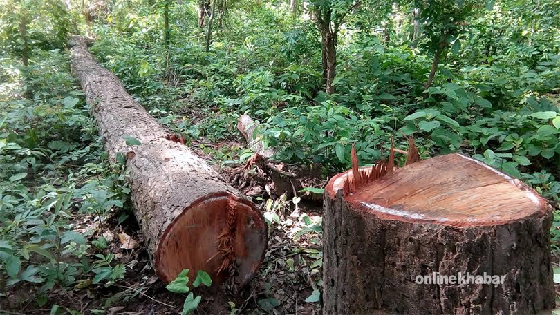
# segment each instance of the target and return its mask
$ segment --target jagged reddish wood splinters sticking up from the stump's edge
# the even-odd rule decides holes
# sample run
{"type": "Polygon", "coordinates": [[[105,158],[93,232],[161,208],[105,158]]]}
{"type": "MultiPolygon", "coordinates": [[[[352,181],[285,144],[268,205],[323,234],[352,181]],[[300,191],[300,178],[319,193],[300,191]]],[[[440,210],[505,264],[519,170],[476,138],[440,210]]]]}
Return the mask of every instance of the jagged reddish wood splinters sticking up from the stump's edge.
{"type": "Polygon", "coordinates": [[[346,173],[346,180],[344,180],[344,184],[342,185],[342,192],[344,195],[349,195],[361,187],[364,187],[372,180],[378,180],[386,175],[386,173],[392,173],[395,171],[397,168],[397,166],[395,166],[395,152],[407,154],[407,160],[404,162],[404,165],[420,161],[420,154],[418,154],[418,149],[414,145],[414,138],[406,136],[405,138],[409,142],[408,151],[395,149],[393,139],[391,139],[391,148],[389,149],[388,160],[377,162],[371,166],[371,169],[368,170],[360,170],[360,162],[357,159],[356,149],[354,145],[352,145],[352,149],[350,151],[352,169],[351,172],[346,173]],[[348,173],[351,173],[351,178],[348,178],[348,173]]]}

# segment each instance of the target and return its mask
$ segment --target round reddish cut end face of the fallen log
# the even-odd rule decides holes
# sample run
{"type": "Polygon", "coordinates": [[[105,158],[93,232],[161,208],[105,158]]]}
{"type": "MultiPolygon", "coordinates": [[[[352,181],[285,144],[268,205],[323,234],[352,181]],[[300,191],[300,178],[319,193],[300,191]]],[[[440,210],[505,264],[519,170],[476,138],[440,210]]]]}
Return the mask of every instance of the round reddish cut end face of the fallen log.
{"type": "Polygon", "coordinates": [[[169,283],[183,269],[206,271],[213,283],[233,278],[243,287],[259,271],[267,234],[261,213],[229,193],[201,198],[176,217],[161,237],[154,257],[158,276],[169,283]]]}

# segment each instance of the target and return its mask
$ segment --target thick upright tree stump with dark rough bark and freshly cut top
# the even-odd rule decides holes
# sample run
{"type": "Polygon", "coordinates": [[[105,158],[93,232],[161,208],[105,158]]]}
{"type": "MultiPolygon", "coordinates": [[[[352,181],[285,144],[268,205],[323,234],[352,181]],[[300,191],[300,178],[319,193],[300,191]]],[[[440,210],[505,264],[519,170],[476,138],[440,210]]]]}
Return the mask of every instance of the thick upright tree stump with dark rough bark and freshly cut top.
{"type": "Polygon", "coordinates": [[[533,189],[459,154],[355,185],[353,173],[336,175],[324,193],[324,314],[535,314],[554,307],[552,207],[533,189]],[[505,278],[495,286],[465,284],[467,278],[433,284],[436,276],[466,272],[505,278]]]}

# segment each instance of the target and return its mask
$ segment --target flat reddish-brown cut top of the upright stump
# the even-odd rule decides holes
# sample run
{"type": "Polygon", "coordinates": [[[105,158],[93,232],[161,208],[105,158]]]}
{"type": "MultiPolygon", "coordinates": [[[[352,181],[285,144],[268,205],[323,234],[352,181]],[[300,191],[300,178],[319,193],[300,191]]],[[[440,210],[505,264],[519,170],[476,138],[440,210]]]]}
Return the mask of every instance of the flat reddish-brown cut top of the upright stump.
{"type": "MultiPolygon", "coordinates": [[[[379,172],[375,166],[373,171],[371,167],[359,171],[362,179],[379,172]]],[[[336,175],[326,193],[334,197],[346,189],[353,173],[355,169],[336,175]]],[[[521,181],[460,154],[409,164],[344,193],[344,199],[357,211],[378,218],[453,227],[503,225],[550,207],[521,181]]]]}

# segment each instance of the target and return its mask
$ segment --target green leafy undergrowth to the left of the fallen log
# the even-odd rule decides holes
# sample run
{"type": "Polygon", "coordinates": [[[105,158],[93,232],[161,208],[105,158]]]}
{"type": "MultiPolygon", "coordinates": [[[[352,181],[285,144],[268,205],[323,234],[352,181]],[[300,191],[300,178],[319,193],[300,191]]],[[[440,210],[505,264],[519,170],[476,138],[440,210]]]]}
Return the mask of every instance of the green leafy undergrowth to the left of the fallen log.
{"type": "Polygon", "coordinates": [[[124,266],[111,262],[103,236],[90,236],[116,211],[120,221],[128,216],[119,211],[129,193],[127,173],[122,164],[109,165],[66,55],[36,49],[25,74],[5,56],[0,71],[6,80],[0,95],[4,307],[24,303],[5,295],[18,283],[31,283],[36,306],[43,307],[57,302],[48,294],[58,288],[123,278],[124,266]]]}

